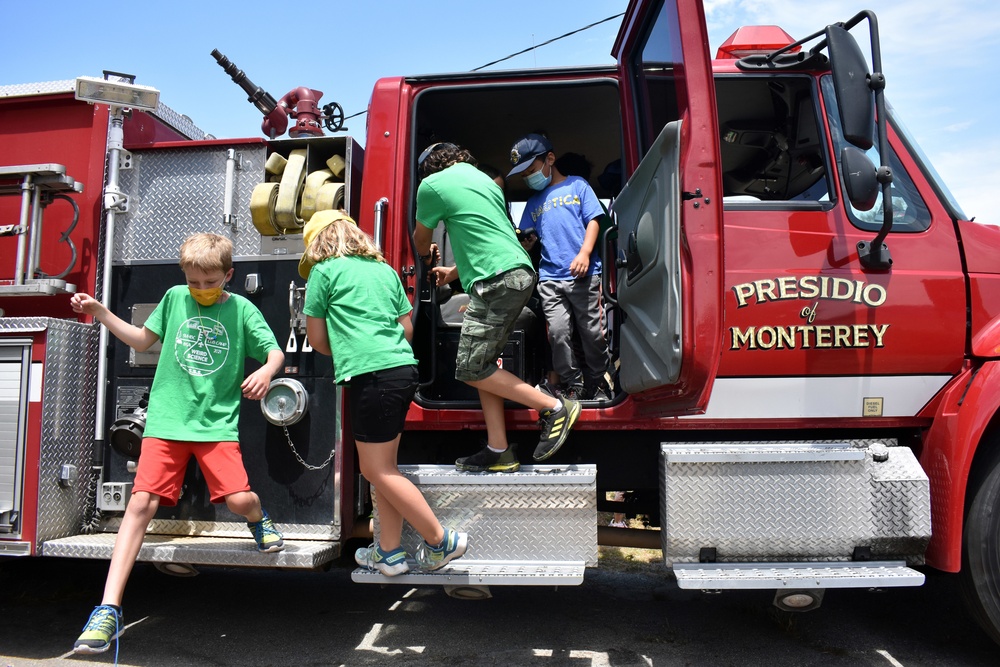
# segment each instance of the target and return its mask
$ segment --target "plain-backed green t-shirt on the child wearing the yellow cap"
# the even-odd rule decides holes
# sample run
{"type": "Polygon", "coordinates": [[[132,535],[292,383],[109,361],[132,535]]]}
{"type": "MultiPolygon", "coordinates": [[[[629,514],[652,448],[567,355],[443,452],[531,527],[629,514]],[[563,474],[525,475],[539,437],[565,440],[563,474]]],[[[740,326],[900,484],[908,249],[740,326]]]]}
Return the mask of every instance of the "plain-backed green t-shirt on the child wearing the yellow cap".
{"type": "Polygon", "coordinates": [[[325,259],[312,268],[302,311],[326,320],[337,382],[417,363],[397,322],[413,306],[385,262],[364,257],[325,259]]]}

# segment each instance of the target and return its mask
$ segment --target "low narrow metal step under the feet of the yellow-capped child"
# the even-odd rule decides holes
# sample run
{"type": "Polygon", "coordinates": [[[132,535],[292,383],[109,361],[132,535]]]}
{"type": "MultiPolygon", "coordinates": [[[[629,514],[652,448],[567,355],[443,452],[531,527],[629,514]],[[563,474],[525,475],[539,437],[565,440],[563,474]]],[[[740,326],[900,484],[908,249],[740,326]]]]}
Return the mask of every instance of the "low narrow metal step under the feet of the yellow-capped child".
{"type": "MultiPolygon", "coordinates": [[[[413,564],[411,563],[411,567],[413,564]]],[[[584,561],[461,560],[434,572],[408,572],[387,577],[359,567],[351,580],[359,584],[430,584],[434,586],[578,586],[584,561]]]]}

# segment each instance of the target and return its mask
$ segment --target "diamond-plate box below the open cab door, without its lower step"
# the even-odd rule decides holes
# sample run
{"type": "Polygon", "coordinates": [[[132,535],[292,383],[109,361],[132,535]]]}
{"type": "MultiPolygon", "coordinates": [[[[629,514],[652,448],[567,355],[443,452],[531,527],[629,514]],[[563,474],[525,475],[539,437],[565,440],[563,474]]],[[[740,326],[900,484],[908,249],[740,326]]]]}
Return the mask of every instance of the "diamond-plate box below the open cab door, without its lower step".
{"type": "MultiPolygon", "coordinates": [[[[597,565],[596,467],[535,468],[496,475],[456,473],[446,466],[400,466],[400,471],[417,484],[442,525],[469,533],[470,560],[597,565]],[[559,483],[560,476],[572,483],[559,483]]],[[[372,496],[377,540],[374,490],[372,496]]],[[[420,542],[416,531],[404,524],[406,550],[415,553],[420,542]]]]}

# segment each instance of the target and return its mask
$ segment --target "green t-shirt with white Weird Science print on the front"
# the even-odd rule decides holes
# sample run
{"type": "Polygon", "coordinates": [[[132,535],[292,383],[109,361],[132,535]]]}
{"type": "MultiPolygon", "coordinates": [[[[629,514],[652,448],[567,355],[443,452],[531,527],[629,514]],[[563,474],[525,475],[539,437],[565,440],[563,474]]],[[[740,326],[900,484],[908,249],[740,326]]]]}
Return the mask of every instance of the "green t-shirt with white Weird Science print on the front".
{"type": "Polygon", "coordinates": [[[165,440],[238,440],[244,360],[280,350],[255,305],[230,294],[199,306],[186,285],[167,290],[145,327],[163,343],[143,435],[165,440]]]}

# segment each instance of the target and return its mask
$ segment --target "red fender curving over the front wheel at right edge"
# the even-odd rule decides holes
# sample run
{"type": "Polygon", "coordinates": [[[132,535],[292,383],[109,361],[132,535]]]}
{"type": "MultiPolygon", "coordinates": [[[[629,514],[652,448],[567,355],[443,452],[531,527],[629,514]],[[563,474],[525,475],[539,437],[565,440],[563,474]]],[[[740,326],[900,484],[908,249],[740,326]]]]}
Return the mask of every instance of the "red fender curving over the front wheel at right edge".
{"type": "Polygon", "coordinates": [[[1000,362],[966,369],[945,390],[924,441],[920,463],[930,478],[933,536],[927,564],[945,572],[962,566],[965,493],[973,455],[1000,407],[1000,362]]]}

